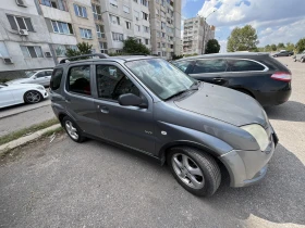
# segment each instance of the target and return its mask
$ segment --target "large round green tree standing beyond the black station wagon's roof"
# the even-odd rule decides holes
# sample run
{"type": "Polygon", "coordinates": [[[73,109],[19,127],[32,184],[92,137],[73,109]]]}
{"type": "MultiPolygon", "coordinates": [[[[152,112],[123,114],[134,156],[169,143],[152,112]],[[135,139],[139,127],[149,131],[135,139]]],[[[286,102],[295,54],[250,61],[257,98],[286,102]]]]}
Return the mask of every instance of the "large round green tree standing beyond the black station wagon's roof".
{"type": "Polygon", "coordinates": [[[258,43],[256,30],[251,25],[235,27],[228,37],[227,51],[253,51],[258,43]]]}

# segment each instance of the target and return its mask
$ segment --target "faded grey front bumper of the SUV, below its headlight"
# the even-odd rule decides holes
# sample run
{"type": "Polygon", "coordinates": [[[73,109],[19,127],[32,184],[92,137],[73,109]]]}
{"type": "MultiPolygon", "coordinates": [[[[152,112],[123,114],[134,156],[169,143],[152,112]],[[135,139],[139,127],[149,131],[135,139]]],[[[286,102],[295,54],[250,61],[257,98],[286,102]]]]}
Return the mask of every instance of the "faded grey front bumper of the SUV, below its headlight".
{"type": "Polygon", "coordinates": [[[268,162],[278,143],[274,132],[270,134],[270,143],[266,151],[232,150],[220,156],[230,174],[231,187],[246,187],[260,181],[267,173],[268,162]]]}

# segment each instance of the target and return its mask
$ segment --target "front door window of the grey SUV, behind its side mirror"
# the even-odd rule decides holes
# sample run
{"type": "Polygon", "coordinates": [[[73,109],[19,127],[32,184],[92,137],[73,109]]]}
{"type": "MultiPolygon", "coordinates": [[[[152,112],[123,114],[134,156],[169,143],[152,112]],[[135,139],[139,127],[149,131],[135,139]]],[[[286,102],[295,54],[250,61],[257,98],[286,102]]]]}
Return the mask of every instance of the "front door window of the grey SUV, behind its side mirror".
{"type": "Polygon", "coordinates": [[[99,98],[118,100],[125,93],[139,96],[136,86],[117,66],[97,65],[96,81],[99,98]]]}

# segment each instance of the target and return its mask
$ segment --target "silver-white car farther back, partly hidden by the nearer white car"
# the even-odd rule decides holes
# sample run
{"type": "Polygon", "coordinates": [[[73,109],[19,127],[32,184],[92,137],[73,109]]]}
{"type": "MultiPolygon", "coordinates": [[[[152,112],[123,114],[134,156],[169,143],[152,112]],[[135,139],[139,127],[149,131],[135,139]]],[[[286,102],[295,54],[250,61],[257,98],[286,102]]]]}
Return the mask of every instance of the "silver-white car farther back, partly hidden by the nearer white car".
{"type": "Polygon", "coordinates": [[[25,72],[24,78],[10,80],[7,84],[39,84],[41,86],[50,86],[50,79],[53,69],[40,69],[25,72]]]}

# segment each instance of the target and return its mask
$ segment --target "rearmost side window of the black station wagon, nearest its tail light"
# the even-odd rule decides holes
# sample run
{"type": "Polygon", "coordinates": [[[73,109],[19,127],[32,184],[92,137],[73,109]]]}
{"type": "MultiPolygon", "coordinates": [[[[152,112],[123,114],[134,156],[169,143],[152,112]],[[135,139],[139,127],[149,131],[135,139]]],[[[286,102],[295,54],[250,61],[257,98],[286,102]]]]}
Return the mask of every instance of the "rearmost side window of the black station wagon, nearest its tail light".
{"type": "Polygon", "coordinates": [[[230,64],[230,72],[253,72],[264,71],[265,66],[259,63],[248,60],[228,60],[230,64]]]}

